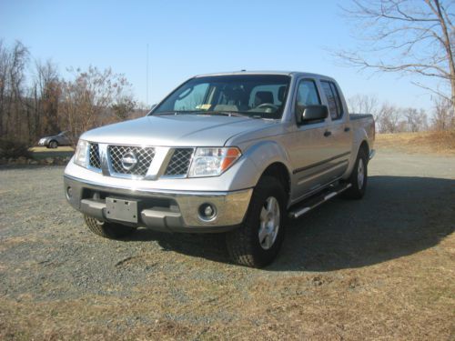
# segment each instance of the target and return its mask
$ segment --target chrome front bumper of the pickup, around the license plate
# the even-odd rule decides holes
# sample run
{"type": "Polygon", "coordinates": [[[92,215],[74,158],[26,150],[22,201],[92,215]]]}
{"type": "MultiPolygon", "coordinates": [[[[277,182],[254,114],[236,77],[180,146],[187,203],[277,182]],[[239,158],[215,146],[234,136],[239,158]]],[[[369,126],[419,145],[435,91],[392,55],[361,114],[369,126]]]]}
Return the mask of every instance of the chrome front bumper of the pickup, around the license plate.
{"type": "Polygon", "coordinates": [[[242,224],[253,192],[252,188],[232,192],[198,192],[110,187],[68,175],[64,176],[64,183],[67,201],[86,216],[109,221],[106,217],[106,197],[136,200],[138,222],[133,225],[167,232],[232,230],[242,224]],[[71,190],[68,191],[68,188],[71,190]],[[207,221],[199,217],[199,206],[203,204],[216,207],[215,218],[207,221]]]}

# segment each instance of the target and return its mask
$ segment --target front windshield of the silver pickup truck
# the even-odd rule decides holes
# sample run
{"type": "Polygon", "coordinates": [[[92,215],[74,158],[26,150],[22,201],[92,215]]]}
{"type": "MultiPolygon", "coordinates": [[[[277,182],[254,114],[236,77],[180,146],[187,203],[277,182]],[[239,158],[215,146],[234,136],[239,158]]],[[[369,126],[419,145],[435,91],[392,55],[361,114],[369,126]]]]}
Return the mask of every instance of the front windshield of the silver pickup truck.
{"type": "Polygon", "coordinates": [[[157,105],[151,115],[248,115],[281,118],[288,75],[214,75],[192,78],[157,105]]]}

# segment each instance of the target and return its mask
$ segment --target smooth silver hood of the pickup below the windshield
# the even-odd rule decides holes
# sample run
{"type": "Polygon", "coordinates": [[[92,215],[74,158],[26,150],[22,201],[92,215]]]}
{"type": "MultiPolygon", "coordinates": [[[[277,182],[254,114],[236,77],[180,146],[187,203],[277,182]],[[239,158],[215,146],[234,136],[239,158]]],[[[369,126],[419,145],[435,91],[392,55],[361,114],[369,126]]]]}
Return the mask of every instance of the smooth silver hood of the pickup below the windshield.
{"type": "Polygon", "coordinates": [[[223,115],[150,115],[105,125],[81,138],[111,145],[217,146],[225,145],[234,135],[278,122],[223,115]]]}

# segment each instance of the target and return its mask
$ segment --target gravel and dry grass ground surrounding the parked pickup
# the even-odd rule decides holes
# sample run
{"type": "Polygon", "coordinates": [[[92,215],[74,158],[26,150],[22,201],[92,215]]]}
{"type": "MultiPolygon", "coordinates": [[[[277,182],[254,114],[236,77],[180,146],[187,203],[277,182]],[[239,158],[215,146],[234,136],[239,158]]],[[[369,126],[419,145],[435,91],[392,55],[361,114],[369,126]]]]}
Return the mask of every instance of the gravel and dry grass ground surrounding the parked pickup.
{"type": "Polygon", "coordinates": [[[92,235],[62,167],[1,168],[0,339],[453,340],[455,157],[385,149],[369,171],[257,270],[220,236],[92,235]]]}

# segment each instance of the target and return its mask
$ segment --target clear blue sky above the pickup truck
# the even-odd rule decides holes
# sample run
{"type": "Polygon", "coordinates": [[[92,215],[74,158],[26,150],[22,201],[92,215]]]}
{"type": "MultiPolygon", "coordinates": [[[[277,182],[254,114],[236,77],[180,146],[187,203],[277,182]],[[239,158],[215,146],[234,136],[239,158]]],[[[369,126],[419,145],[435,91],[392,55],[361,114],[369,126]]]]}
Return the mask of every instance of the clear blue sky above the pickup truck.
{"type": "Polygon", "coordinates": [[[430,93],[411,84],[416,78],[359,73],[329,54],[359,44],[339,9],[347,2],[0,0],[0,39],[20,40],[64,76],[68,66],[110,66],[149,105],[191,75],[247,69],[330,75],[346,97],[429,109],[430,93]]]}

